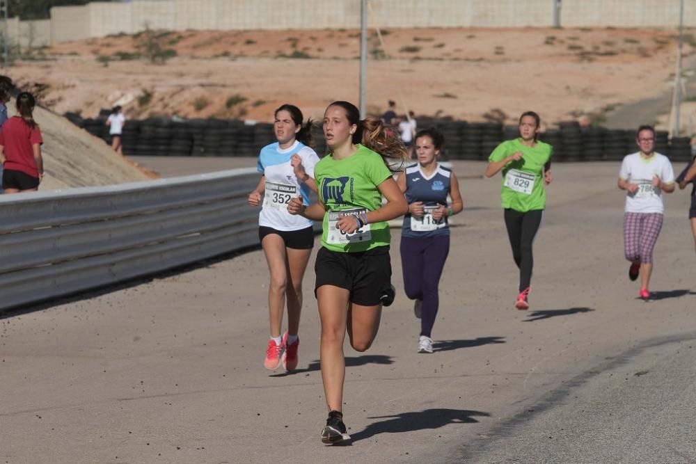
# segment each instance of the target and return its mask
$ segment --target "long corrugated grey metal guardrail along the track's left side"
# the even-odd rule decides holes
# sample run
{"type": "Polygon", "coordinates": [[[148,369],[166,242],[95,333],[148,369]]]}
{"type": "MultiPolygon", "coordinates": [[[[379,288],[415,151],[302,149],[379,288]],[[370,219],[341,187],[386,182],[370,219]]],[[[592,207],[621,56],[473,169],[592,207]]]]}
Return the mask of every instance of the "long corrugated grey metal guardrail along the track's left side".
{"type": "Polygon", "coordinates": [[[0,310],[253,246],[258,179],[244,168],[0,195],[0,310]]]}

